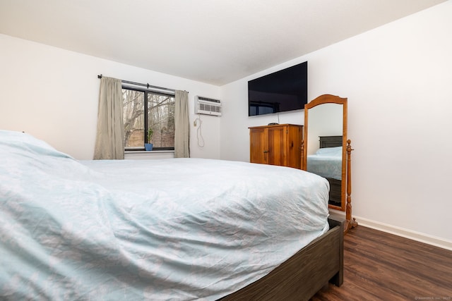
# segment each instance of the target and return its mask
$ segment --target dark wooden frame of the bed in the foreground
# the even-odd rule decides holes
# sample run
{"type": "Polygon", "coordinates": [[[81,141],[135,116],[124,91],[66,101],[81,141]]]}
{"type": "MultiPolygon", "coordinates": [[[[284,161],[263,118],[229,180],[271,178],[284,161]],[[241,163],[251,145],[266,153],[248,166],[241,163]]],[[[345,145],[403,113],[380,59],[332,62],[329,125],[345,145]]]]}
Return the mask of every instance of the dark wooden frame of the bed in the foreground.
{"type": "Polygon", "coordinates": [[[328,281],[342,285],[345,219],[330,216],[328,223],[327,233],[268,275],[220,300],[309,300],[328,281]]]}

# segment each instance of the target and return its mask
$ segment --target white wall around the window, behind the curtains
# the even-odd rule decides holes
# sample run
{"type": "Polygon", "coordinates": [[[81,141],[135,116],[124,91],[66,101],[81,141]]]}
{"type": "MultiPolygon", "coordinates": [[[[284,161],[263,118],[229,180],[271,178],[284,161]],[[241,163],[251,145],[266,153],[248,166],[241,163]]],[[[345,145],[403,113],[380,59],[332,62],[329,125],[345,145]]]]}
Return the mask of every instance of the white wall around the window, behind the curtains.
{"type": "MultiPolygon", "coordinates": [[[[112,78],[189,91],[191,122],[194,97],[217,98],[214,85],[86,56],[44,44],[0,35],[0,129],[35,135],[76,157],[92,159],[97,97],[102,73],[112,78]]],[[[205,147],[191,126],[191,156],[220,156],[220,118],[203,116],[205,147]]]]}

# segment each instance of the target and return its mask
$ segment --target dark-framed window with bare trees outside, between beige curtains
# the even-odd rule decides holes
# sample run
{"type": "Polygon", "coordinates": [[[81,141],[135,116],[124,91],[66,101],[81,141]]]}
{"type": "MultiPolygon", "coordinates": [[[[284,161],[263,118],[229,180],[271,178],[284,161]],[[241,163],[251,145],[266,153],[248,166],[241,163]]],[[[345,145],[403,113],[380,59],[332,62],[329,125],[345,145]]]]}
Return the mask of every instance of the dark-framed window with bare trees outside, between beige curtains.
{"type": "Polygon", "coordinates": [[[122,100],[126,150],[143,150],[148,128],[153,150],[174,149],[174,95],[123,86],[122,100]]]}

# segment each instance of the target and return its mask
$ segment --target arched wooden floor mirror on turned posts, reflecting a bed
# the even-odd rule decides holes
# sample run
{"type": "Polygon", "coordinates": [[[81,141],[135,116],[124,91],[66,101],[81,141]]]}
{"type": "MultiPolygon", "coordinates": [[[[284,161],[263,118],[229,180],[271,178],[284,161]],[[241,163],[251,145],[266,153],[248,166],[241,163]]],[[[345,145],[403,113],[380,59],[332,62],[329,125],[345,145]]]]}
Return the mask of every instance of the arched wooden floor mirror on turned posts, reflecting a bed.
{"type": "Polygon", "coordinates": [[[347,98],[323,94],[304,106],[302,169],[323,176],[330,183],[328,207],[345,211],[345,229],[357,226],[352,219],[352,168],[347,140],[347,98]]]}

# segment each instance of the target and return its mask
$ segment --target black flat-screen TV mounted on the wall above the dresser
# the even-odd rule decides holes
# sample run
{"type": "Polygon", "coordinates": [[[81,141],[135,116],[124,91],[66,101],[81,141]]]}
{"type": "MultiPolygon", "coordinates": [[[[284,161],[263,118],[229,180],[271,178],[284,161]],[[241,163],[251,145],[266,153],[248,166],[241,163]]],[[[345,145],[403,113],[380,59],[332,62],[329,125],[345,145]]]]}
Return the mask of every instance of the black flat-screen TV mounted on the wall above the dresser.
{"type": "Polygon", "coordinates": [[[248,82],[248,116],[304,109],[307,100],[307,61],[248,82]]]}

